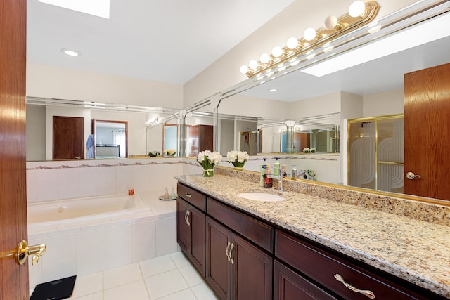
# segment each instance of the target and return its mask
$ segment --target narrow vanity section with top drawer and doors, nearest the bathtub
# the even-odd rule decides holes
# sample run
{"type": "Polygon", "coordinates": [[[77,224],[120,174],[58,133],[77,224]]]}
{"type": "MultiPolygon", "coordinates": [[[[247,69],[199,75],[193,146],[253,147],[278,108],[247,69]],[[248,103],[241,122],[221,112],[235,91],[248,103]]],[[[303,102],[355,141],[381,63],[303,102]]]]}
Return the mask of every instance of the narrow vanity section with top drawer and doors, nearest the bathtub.
{"type": "Polygon", "coordinates": [[[205,209],[205,195],[183,185],[178,186],[178,195],[176,240],[195,268],[205,276],[205,213],[180,197],[184,196],[205,209]]]}

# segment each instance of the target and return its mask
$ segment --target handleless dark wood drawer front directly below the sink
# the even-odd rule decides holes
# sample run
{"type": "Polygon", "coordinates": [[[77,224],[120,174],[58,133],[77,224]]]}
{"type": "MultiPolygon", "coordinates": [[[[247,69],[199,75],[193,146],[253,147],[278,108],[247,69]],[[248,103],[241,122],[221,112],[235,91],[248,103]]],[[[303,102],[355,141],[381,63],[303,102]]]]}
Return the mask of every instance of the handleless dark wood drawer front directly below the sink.
{"type": "Polygon", "coordinates": [[[274,252],[274,228],[207,197],[207,214],[263,249],[274,252]]]}

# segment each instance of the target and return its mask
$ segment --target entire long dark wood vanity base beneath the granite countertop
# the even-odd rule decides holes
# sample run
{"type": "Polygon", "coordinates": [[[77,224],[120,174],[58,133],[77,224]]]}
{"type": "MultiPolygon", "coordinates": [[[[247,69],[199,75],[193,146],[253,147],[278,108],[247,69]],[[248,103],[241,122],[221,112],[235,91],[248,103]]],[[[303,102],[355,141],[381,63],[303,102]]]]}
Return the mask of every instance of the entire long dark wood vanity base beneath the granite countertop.
{"type": "Polygon", "coordinates": [[[178,243],[220,299],[444,299],[186,185],[178,195],[178,243]]]}

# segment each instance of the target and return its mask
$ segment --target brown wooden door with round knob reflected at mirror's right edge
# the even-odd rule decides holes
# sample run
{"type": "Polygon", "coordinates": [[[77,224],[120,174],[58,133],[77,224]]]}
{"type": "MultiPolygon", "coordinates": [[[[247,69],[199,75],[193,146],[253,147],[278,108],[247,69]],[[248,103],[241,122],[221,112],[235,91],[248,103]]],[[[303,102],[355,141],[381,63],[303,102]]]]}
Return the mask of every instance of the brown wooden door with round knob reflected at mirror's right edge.
{"type": "Polygon", "coordinates": [[[450,200],[450,64],[404,76],[404,193],[450,200]]]}

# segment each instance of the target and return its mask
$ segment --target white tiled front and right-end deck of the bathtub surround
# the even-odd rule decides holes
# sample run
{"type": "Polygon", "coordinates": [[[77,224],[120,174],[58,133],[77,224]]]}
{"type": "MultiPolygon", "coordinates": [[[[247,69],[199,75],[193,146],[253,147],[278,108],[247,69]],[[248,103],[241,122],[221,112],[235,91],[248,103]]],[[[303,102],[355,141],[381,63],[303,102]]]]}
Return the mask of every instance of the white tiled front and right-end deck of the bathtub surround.
{"type": "Polygon", "coordinates": [[[163,193],[141,193],[150,211],[138,214],[70,225],[29,225],[28,242],[47,244],[39,263],[30,263],[30,287],[176,252],[176,202],[158,200],[163,193]]]}

